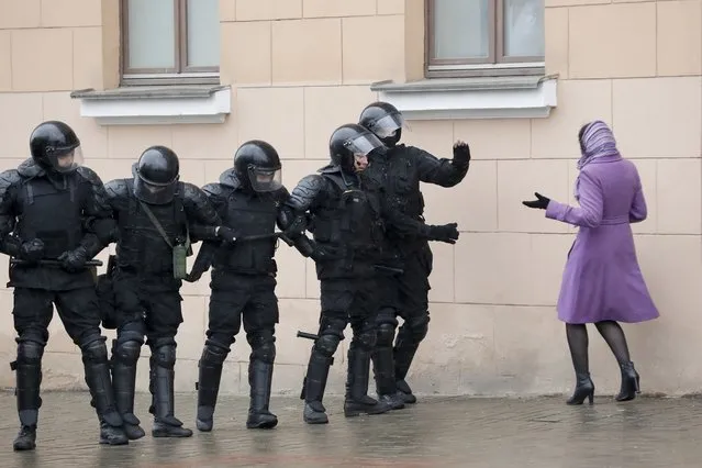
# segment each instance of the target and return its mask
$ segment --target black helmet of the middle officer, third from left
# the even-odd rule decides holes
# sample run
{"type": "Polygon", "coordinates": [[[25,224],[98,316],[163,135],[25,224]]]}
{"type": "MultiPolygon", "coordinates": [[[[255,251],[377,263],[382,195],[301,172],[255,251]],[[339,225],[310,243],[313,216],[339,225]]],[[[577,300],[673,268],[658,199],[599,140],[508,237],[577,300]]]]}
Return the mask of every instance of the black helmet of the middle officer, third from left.
{"type": "Polygon", "coordinates": [[[282,187],[278,152],[260,140],[252,140],[238,147],[234,154],[234,171],[246,189],[272,192],[282,187]]]}

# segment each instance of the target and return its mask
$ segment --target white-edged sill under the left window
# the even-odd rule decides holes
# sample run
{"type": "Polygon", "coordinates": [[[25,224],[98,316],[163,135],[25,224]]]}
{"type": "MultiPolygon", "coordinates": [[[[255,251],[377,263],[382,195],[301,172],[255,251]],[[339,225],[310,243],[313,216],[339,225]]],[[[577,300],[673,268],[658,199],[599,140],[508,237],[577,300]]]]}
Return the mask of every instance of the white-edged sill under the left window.
{"type": "Polygon", "coordinates": [[[80,99],[81,116],[100,125],[222,123],[232,110],[232,89],[220,85],[83,89],[70,97],[80,99]]]}

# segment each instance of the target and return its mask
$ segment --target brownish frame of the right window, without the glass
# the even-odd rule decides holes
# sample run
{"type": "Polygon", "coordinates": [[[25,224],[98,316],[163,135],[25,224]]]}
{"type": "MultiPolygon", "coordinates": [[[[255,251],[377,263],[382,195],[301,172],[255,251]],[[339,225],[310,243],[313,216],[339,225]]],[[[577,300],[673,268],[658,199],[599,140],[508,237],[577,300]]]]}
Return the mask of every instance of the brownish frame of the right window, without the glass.
{"type": "MultiPolygon", "coordinates": [[[[476,76],[524,76],[545,73],[544,56],[504,55],[504,1],[488,0],[490,45],[484,58],[432,58],[434,49],[434,4],[424,0],[424,75],[427,78],[459,78],[476,76]]],[[[545,34],[545,31],[544,31],[545,34]]]]}

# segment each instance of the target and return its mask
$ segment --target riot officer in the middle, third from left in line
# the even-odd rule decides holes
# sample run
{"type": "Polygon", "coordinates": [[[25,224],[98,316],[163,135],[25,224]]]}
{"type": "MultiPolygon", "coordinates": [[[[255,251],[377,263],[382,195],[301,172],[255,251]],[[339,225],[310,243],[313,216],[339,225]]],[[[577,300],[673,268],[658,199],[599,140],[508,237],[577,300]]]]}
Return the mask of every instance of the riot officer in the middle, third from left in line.
{"type": "MultiPolygon", "coordinates": [[[[234,167],[225,170],[219,182],[203,187],[223,226],[233,230],[236,242],[208,242],[199,255],[199,258],[210,255],[208,264],[213,267],[210,323],[197,386],[197,427],[200,431],[212,431],[222,366],[242,320],[252,348],[246,427],[271,428],[278,424],[268,405],[278,323],[274,256],[279,234],[275,230],[280,205],[289,197],[280,177],[280,157],[276,149],[266,142],[254,140],[239,146],[234,155],[234,167]]],[[[193,268],[191,280],[197,280],[207,267],[193,268]]]]}

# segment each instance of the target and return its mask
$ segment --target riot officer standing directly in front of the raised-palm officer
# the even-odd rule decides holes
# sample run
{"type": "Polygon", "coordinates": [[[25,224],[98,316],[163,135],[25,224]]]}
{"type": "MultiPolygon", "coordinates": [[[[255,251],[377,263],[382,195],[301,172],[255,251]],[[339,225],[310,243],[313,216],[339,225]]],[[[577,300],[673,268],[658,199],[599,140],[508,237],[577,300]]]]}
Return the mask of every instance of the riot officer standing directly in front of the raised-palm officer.
{"type": "MultiPolygon", "coordinates": [[[[350,323],[344,414],[380,414],[390,408],[368,397],[370,354],[376,344],[375,265],[382,241],[379,193],[361,183],[368,155],[382,143],[357,124],[336,129],[330,140],[331,164],[319,175],[304,177],[287,203],[287,220],[308,215],[313,241],[294,237],[304,256],[312,257],[321,282],[320,328],[312,347],[303,389],[303,419],[327,423],[322,404],[334,353],[350,323]]],[[[290,221],[291,222],[291,221],[290,221]]],[[[288,226],[289,221],[283,221],[288,226]]]]}

